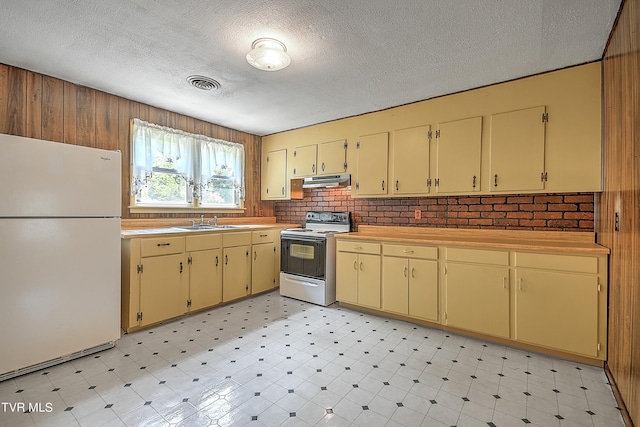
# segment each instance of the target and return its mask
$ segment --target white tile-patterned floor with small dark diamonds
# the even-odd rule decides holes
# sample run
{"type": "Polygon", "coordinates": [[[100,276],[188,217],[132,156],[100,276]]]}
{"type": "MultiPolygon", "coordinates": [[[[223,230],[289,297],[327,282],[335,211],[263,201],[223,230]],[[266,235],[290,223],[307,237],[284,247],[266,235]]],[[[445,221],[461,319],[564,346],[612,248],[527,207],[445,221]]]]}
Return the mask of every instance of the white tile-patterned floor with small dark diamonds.
{"type": "Polygon", "coordinates": [[[0,383],[14,426],[619,426],[602,369],[271,292],[0,383]],[[33,407],[35,408],[35,407],[33,407]]]}

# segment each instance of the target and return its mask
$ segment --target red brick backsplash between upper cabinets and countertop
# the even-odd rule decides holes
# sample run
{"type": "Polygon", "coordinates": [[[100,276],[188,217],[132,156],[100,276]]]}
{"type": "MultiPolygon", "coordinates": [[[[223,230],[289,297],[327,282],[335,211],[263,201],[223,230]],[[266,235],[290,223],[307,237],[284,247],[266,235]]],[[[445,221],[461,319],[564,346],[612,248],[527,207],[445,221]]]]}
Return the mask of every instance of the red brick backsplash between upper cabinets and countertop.
{"type": "Polygon", "coordinates": [[[307,211],[350,211],[364,225],[594,231],[593,193],[352,198],[350,187],[305,189],[275,202],[278,222],[304,224],[307,211]],[[415,219],[420,210],[421,219],[415,219]]]}

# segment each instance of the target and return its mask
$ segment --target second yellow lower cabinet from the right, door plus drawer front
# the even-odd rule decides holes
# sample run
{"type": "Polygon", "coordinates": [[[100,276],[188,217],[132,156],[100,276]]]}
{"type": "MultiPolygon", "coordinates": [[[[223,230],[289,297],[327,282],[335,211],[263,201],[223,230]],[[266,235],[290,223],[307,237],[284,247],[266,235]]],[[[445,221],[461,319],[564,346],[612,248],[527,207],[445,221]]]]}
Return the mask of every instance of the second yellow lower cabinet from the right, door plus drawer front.
{"type": "Polygon", "coordinates": [[[510,337],[509,252],[447,248],[443,323],[510,337]]]}

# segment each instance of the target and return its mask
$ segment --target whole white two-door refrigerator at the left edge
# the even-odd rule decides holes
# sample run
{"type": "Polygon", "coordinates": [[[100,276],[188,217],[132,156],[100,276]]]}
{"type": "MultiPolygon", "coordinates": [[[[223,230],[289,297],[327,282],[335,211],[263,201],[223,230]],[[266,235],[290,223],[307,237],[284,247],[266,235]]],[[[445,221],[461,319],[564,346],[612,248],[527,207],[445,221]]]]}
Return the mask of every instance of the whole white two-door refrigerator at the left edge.
{"type": "Polygon", "coordinates": [[[0,381],[120,337],[121,154],[0,134],[0,381]]]}

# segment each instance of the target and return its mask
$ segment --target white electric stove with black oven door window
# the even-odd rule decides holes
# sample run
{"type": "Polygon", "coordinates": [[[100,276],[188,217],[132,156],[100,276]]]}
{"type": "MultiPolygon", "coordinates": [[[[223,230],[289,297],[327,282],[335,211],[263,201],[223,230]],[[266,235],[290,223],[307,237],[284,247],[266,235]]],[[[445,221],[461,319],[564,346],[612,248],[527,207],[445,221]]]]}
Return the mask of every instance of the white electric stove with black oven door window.
{"type": "Polygon", "coordinates": [[[305,228],[282,230],[280,295],[323,306],[336,302],[335,235],[350,229],[349,212],[307,212],[305,228]]]}

